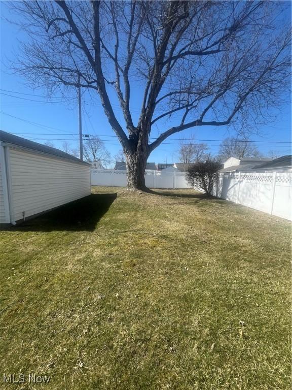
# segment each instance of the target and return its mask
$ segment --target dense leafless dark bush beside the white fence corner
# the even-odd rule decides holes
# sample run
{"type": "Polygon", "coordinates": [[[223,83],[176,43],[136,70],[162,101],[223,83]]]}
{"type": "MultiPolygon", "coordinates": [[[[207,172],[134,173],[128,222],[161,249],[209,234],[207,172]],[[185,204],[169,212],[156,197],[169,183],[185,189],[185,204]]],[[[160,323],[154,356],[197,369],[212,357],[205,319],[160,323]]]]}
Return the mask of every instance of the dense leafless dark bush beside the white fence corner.
{"type": "Polygon", "coordinates": [[[197,161],[189,167],[186,173],[187,182],[199,190],[203,190],[210,196],[216,179],[216,172],[220,169],[221,163],[215,159],[208,158],[206,161],[197,161]]]}

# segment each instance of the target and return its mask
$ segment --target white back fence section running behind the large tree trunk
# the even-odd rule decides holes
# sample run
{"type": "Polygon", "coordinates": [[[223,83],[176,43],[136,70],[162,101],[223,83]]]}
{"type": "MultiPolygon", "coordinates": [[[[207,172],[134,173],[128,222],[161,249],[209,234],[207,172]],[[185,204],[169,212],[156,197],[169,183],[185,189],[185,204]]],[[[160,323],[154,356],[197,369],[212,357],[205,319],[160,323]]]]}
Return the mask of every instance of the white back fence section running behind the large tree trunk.
{"type": "MultiPolygon", "coordinates": [[[[126,171],[91,169],[91,185],[126,187],[126,171]]],[[[149,188],[192,188],[186,181],[185,172],[146,171],[145,185],[149,188]]]]}

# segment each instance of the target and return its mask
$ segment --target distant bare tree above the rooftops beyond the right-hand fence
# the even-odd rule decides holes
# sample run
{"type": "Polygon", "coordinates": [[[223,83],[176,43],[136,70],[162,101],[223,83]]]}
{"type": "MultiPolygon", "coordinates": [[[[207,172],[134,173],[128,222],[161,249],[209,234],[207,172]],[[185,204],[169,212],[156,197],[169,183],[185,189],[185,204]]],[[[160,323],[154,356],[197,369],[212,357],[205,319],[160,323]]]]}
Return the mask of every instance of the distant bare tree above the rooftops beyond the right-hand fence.
{"type": "Polygon", "coordinates": [[[236,137],[226,138],[220,145],[219,157],[221,161],[226,161],[230,157],[261,157],[261,153],[248,138],[238,139],[236,137]]]}

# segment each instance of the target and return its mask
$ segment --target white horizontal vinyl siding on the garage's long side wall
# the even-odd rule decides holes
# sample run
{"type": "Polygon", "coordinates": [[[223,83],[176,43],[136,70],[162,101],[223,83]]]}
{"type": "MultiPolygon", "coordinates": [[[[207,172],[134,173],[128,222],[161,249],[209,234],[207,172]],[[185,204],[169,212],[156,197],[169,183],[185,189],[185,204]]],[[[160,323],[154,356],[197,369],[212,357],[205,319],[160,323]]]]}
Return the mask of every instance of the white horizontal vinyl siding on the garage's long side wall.
{"type": "Polygon", "coordinates": [[[15,221],[91,193],[90,166],[13,147],[9,159],[15,221]]]}

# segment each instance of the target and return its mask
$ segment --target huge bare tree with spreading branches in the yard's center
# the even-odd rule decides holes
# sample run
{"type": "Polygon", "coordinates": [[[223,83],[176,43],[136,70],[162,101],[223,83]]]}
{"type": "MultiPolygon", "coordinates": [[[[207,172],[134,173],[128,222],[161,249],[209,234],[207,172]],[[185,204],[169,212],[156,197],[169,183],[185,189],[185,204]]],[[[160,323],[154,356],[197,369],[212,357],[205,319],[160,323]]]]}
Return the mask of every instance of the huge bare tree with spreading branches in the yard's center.
{"type": "Polygon", "coordinates": [[[15,68],[50,91],[64,85],[98,93],[126,155],[129,189],[146,188],[147,158],[167,137],[196,126],[268,121],[269,107],[288,96],[286,2],[22,1],[11,7],[30,37],[15,68]],[[136,123],[133,83],[141,91],[136,123]],[[154,124],[161,133],[150,142],[154,124]]]}

